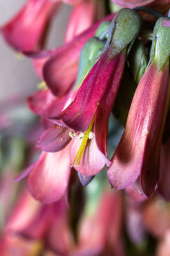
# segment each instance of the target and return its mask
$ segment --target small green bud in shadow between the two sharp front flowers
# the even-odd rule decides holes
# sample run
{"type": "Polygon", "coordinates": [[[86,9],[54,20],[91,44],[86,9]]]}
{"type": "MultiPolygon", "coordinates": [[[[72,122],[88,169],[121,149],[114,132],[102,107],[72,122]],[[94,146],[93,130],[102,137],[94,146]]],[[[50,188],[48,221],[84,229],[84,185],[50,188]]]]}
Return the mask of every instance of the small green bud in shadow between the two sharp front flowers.
{"type": "Polygon", "coordinates": [[[129,63],[134,76],[134,81],[139,83],[147,67],[146,49],[142,40],[136,40],[134,43],[129,54],[129,63]]]}

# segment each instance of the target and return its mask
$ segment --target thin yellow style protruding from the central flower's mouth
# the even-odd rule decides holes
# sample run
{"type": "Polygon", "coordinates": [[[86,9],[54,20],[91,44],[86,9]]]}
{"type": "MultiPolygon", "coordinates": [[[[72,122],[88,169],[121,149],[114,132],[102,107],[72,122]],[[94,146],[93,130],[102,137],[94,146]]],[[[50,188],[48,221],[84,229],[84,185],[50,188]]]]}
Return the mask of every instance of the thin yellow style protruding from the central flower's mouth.
{"type": "MultiPolygon", "coordinates": [[[[89,125],[89,128],[88,128],[87,131],[85,132],[85,136],[84,136],[84,138],[83,138],[83,141],[81,142],[81,146],[80,146],[80,148],[79,148],[79,150],[78,150],[78,152],[77,152],[77,154],[76,154],[76,157],[74,158],[73,164],[76,162],[76,165],[78,164],[78,166],[79,166],[80,161],[81,161],[81,157],[82,157],[83,152],[84,152],[84,150],[85,150],[85,146],[86,146],[86,144],[87,144],[87,141],[88,141],[88,138],[89,138],[89,133],[90,133],[90,131],[92,130],[93,124],[94,124],[94,117],[93,117],[93,119],[92,119],[92,122],[91,122],[90,125],[89,125]]],[[[71,165],[71,167],[73,167],[73,164],[71,165]]],[[[75,165],[75,166],[76,166],[76,165],[75,165]]]]}

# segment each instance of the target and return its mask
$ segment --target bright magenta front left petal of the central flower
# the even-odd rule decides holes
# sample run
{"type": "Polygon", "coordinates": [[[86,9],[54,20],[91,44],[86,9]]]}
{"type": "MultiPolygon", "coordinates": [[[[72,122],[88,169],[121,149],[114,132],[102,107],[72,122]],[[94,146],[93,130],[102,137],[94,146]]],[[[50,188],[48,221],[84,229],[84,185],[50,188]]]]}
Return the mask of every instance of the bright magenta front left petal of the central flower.
{"type": "Polygon", "coordinates": [[[122,74],[121,72],[124,68],[124,60],[124,53],[110,60],[110,49],[104,52],[103,56],[99,58],[96,65],[94,65],[87,77],[85,77],[73,102],[60,115],[53,117],[53,120],[60,119],[63,124],[71,129],[85,131],[88,129],[100,104],[102,106],[107,104],[109,111],[111,111],[118,90],[119,75],[122,74]],[[120,65],[120,68],[118,65],[120,65]],[[120,70],[118,72],[118,79],[113,84],[117,84],[116,88],[111,86],[113,83],[112,79],[115,78],[115,68],[120,70]],[[113,100],[107,97],[110,92],[114,95],[113,100]],[[106,103],[104,100],[108,102],[106,103]]]}

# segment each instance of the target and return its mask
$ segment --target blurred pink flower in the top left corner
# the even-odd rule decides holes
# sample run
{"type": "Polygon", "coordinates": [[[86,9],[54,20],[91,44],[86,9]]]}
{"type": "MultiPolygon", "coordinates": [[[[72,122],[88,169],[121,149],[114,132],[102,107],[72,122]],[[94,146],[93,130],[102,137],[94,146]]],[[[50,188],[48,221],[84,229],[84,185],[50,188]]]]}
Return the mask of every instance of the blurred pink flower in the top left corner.
{"type": "Polygon", "coordinates": [[[46,27],[59,3],[50,0],[29,0],[20,12],[1,28],[4,38],[17,51],[41,48],[46,27]]]}

